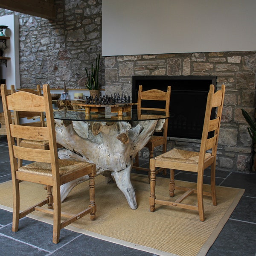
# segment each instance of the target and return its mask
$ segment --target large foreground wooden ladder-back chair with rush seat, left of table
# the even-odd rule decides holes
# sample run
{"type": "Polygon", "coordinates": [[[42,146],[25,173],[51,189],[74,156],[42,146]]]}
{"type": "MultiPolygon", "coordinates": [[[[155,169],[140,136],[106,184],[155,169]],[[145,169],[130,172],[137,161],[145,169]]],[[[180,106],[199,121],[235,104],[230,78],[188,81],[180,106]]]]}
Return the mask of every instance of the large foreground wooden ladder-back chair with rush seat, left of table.
{"type": "MultiPolygon", "coordinates": [[[[53,243],[59,242],[60,230],[73,221],[90,213],[91,220],[95,220],[96,204],[94,201],[95,164],[60,160],[57,154],[55,125],[53,119],[52,100],[49,84],[43,86],[44,95],[39,96],[26,91],[18,91],[7,95],[6,84],[1,85],[3,111],[6,121],[7,140],[12,172],[13,187],[13,224],[12,231],[17,232],[19,220],[27,214],[38,210],[53,214],[53,243]],[[11,111],[45,112],[47,127],[26,126],[12,124],[11,111]],[[23,148],[15,145],[15,138],[26,140],[47,140],[49,149],[23,148]],[[32,161],[26,166],[18,166],[17,159],[32,161]],[[89,207],[78,214],[61,212],[60,186],[84,175],[89,175],[89,207]],[[47,185],[47,198],[38,204],[20,212],[19,180],[47,185]],[[43,207],[48,204],[47,207],[43,207]],[[61,216],[66,219],[61,222],[61,216]]],[[[75,207],[74,207],[75,208],[75,207]]]]}

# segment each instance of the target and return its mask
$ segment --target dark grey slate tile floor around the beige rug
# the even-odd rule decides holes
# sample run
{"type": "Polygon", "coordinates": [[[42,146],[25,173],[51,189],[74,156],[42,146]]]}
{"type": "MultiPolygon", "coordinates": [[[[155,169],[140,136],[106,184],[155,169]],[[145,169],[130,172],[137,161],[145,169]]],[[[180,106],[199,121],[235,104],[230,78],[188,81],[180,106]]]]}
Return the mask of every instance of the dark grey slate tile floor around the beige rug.
{"type": "MultiPolygon", "coordinates": [[[[0,183],[11,180],[9,165],[6,137],[1,136],[0,183]]],[[[177,172],[176,177],[179,180],[195,181],[196,179],[195,175],[188,172],[177,172]]],[[[207,171],[205,172],[205,182],[209,183],[207,171]]],[[[256,256],[256,174],[217,172],[216,183],[221,186],[244,188],[245,193],[207,256],[256,256]]],[[[60,243],[53,244],[52,226],[27,217],[20,220],[20,232],[13,233],[11,226],[12,213],[0,209],[1,256],[155,255],[65,229],[61,230],[60,243]]]]}

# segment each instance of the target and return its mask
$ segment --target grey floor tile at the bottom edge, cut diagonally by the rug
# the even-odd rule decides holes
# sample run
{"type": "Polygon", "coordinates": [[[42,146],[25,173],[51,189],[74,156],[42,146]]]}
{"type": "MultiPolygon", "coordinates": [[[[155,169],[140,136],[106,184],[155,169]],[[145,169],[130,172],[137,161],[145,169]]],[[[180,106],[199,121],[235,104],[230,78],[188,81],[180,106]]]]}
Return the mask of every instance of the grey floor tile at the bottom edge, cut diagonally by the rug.
{"type": "Polygon", "coordinates": [[[79,236],[72,243],[59,249],[52,256],[83,255],[83,256],[152,256],[141,250],[113,244],[90,236],[79,236]]]}

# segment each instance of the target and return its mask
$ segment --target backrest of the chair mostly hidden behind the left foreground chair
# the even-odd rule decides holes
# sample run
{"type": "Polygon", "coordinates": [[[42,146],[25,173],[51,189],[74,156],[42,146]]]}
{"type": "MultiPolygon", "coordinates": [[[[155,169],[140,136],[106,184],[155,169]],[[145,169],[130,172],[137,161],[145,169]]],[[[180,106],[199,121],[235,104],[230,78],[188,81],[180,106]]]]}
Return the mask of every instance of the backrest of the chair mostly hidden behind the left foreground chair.
{"type": "MultiPolygon", "coordinates": [[[[23,91],[23,92],[28,92],[28,93],[33,93],[36,95],[42,95],[41,92],[41,86],[40,84],[37,85],[37,89],[33,90],[33,89],[20,89],[19,91],[23,91]]],[[[15,86],[12,84],[11,85],[11,93],[15,93],[15,86]]],[[[33,110],[33,108],[32,108],[33,110]]],[[[31,122],[23,122],[22,125],[26,125],[26,126],[45,126],[44,123],[44,113],[43,112],[35,112],[35,111],[30,111],[30,112],[22,112],[22,111],[14,111],[14,119],[15,119],[15,124],[20,124],[20,118],[27,118],[27,119],[31,119],[35,118],[35,117],[40,117],[40,122],[34,122],[33,124],[31,122]]],[[[23,119],[24,120],[24,119],[23,119]]]]}

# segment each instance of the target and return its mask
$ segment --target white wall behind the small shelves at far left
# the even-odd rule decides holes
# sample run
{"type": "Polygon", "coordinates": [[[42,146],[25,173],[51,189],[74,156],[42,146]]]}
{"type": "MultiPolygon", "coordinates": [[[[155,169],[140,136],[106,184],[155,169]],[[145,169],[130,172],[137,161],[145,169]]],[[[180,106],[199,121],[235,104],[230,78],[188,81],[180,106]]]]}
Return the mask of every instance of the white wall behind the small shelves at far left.
{"type": "Polygon", "coordinates": [[[11,88],[11,84],[15,84],[16,88],[20,88],[20,63],[19,63],[19,19],[15,15],[6,15],[0,17],[0,25],[6,25],[8,28],[3,31],[5,36],[9,36],[7,40],[8,49],[4,52],[4,57],[10,57],[7,60],[7,68],[1,63],[0,70],[2,78],[6,79],[7,89],[11,88]]]}

